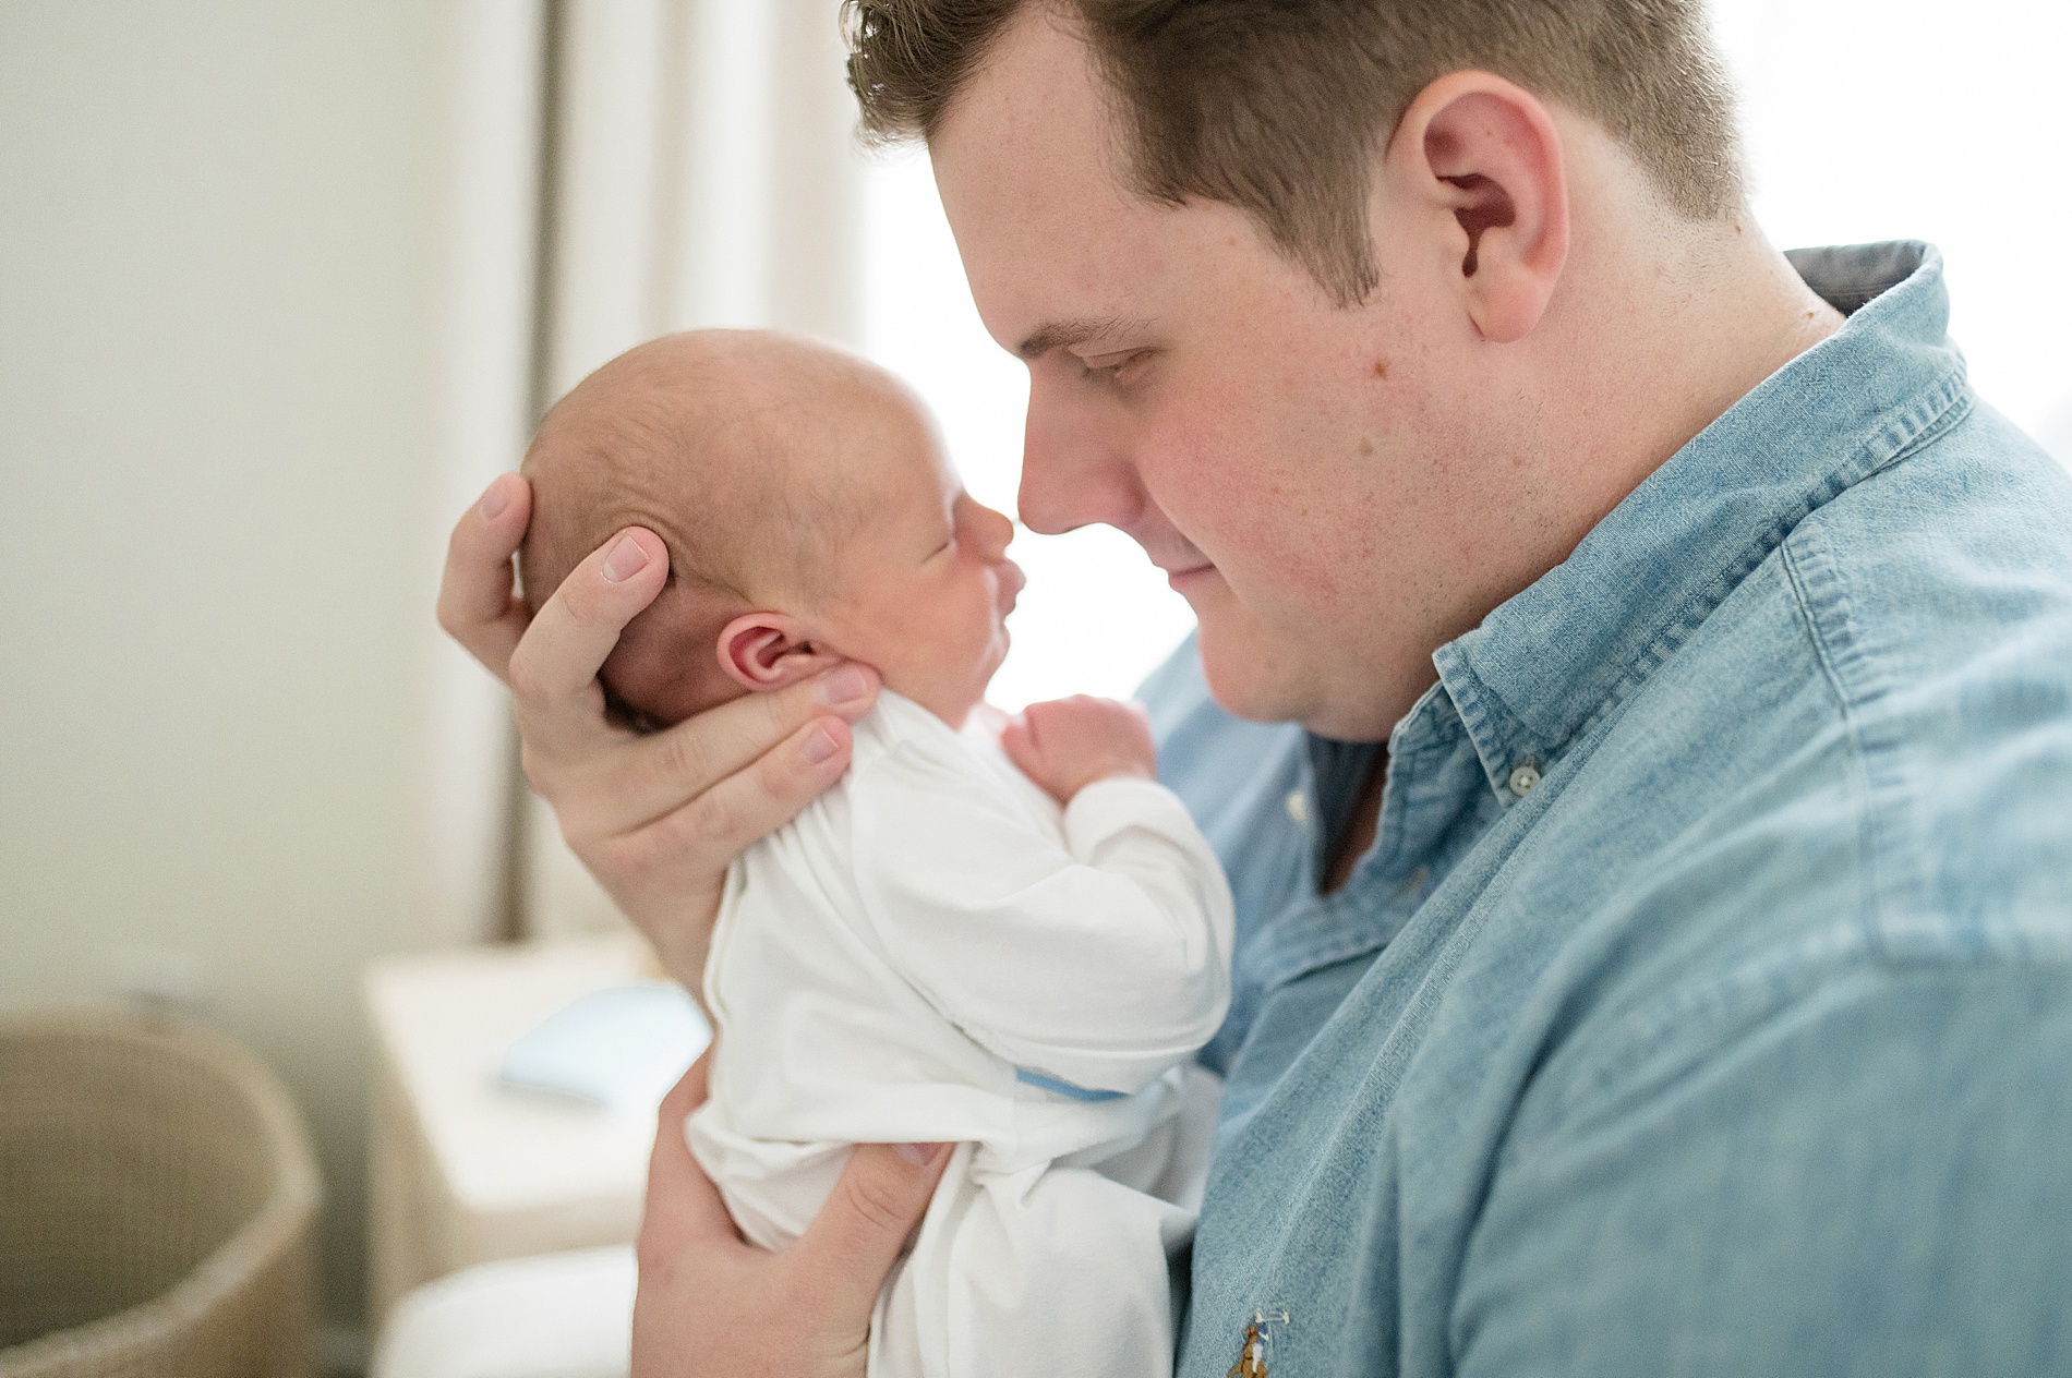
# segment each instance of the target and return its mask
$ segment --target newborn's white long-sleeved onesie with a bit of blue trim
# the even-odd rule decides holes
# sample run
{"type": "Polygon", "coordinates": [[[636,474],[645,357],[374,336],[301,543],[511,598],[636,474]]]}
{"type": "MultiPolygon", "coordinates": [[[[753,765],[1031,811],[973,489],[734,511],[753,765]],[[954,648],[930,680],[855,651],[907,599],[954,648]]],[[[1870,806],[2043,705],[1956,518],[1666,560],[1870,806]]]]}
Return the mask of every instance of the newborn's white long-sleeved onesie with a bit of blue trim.
{"type": "Polygon", "coordinates": [[[1173,1366],[1229,1005],[1231,891],[1140,779],[1071,806],[885,692],[845,779],[727,872],[719,1042],[686,1127],[756,1243],[798,1239],[852,1144],[955,1142],[870,1328],[872,1378],[1173,1366]]]}

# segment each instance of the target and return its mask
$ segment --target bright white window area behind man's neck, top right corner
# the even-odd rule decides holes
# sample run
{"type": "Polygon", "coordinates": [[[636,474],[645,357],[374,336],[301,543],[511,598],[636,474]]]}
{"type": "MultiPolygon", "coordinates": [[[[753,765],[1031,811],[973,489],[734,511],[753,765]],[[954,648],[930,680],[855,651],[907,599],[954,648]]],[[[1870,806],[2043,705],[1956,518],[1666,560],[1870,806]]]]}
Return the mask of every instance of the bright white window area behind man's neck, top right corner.
{"type": "Polygon", "coordinates": [[[1780,249],[1925,238],[1979,394],[2072,462],[2072,4],[1714,0],[1780,249]]]}

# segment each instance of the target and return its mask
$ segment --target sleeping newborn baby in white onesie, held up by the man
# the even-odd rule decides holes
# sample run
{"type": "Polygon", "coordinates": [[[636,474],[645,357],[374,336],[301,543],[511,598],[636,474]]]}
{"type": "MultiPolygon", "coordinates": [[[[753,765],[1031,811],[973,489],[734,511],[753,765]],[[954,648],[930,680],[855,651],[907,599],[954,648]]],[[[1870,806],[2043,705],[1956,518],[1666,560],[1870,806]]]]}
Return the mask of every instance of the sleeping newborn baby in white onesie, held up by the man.
{"type": "Polygon", "coordinates": [[[686,1125],[742,1233],[798,1239],[858,1142],[955,1142],[879,1297],[876,1378],[1167,1374],[1229,1003],[1231,895],[1135,709],[982,731],[1021,588],[914,398],[837,350],[694,332],[541,425],[535,611],[613,530],[669,582],[601,680],[667,725],[841,661],[885,692],[850,771],[727,872],[686,1125]]]}

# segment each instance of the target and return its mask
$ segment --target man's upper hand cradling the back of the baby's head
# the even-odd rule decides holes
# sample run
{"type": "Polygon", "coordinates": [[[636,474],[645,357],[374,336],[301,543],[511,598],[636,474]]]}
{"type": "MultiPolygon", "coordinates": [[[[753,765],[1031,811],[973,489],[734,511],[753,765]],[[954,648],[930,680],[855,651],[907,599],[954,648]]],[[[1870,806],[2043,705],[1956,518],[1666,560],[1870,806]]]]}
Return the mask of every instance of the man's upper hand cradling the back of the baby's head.
{"type": "Polygon", "coordinates": [[[626,731],[605,717],[597,669],[661,593],[669,553],[630,526],[528,618],[512,555],[530,514],[530,485],[503,475],[460,518],[439,626],[510,684],[526,779],[663,966],[696,991],[727,864],[841,779],[850,723],[876,700],[876,673],[837,665],[655,736],[626,731]]]}

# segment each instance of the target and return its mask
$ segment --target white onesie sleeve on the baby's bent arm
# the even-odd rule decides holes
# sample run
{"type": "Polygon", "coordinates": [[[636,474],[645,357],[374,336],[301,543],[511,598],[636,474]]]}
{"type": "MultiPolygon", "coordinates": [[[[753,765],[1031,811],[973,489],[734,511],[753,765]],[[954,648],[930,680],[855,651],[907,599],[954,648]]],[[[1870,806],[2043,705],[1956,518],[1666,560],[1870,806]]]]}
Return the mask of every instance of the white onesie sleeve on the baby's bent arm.
{"type": "Polygon", "coordinates": [[[887,953],[988,1053],[1133,1092],[1222,1024],[1231,891],[1173,792],[1088,785],[1059,845],[978,771],[903,744],[850,798],[887,953]]]}

